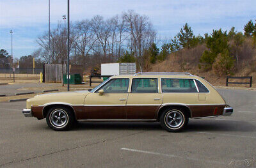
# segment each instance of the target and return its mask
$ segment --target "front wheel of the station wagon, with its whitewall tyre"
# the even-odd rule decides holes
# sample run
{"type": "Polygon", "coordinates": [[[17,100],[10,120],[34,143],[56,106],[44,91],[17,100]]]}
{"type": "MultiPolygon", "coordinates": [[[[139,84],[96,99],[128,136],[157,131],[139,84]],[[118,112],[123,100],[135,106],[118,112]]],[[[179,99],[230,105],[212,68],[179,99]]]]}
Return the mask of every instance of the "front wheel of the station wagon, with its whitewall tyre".
{"type": "Polygon", "coordinates": [[[75,121],[74,115],[66,107],[52,107],[46,116],[47,125],[56,131],[68,130],[75,121]]]}

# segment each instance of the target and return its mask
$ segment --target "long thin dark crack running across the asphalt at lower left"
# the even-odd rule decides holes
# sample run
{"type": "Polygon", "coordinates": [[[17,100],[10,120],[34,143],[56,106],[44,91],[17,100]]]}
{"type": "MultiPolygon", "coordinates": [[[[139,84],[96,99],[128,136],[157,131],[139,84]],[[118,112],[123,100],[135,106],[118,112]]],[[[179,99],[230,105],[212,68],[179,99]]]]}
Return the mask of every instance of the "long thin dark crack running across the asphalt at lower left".
{"type": "Polygon", "coordinates": [[[86,146],[93,146],[95,144],[100,144],[100,143],[104,143],[106,141],[114,141],[116,139],[120,139],[120,138],[124,138],[124,137],[130,137],[132,135],[137,135],[137,134],[141,134],[143,132],[147,132],[147,131],[141,131],[141,132],[137,132],[137,133],[134,133],[134,134],[128,134],[128,135],[124,135],[124,136],[121,136],[121,137],[115,137],[115,138],[111,138],[111,139],[104,139],[102,141],[98,141],[98,142],[93,142],[93,143],[90,143],[90,144],[85,144],[85,145],[82,145],[82,146],[76,146],[74,148],[68,148],[68,149],[61,149],[60,151],[54,151],[54,152],[51,152],[51,153],[46,153],[44,155],[39,155],[39,156],[35,156],[35,157],[30,157],[30,158],[25,158],[25,159],[22,159],[22,160],[13,160],[12,162],[7,162],[5,164],[1,164],[0,167],[3,167],[5,165],[10,165],[10,164],[15,164],[15,163],[18,163],[18,162],[25,162],[27,160],[31,160],[31,159],[34,159],[34,158],[41,158],[41,157],[45,157],[45,156],[48,156],[48,155],[52,155],[52,154],[55,154],[55,153],[61,153],[63,151],[70,151],[70,150],[73,150],[73,149],[79,149],[79,148],[84,148],[86,146]]]}

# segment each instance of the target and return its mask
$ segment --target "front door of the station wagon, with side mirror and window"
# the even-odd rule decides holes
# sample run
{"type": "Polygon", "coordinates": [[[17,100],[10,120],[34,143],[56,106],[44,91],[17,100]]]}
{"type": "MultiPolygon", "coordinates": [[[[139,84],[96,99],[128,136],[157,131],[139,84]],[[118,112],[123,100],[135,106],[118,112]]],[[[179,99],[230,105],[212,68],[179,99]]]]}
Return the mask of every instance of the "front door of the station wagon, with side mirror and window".
{"type": "Polygon", "coordinates": [[[110,79],[84,99],[83,119],[125,119],[129,79],[110,79]],[[104,93],[99,93],[103,90],[104,93]]]}

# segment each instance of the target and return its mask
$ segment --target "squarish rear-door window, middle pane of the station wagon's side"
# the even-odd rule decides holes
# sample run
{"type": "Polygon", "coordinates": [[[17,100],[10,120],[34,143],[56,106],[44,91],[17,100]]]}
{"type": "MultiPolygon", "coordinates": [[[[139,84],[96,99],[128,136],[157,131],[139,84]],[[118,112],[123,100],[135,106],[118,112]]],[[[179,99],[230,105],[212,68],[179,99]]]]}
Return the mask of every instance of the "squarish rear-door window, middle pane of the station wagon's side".
{"type": "Polygon", "coordinates": [[[158,93],[156,78],[132,79],[132,93],[158,93]]]}

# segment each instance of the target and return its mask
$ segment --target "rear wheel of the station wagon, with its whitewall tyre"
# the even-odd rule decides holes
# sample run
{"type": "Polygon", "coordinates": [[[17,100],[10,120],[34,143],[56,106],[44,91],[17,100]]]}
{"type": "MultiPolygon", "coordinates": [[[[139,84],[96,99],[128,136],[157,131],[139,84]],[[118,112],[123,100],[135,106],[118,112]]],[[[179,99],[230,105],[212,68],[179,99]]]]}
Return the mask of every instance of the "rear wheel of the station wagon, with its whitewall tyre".
{"type": "Polygon", "coordinates": [[[188,124],[188,115],[181,108],[166,109],[160,117],[160,123],[168,132],[179,132],[188,124]]]}

